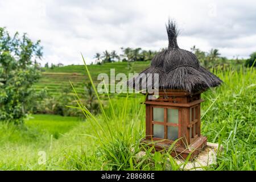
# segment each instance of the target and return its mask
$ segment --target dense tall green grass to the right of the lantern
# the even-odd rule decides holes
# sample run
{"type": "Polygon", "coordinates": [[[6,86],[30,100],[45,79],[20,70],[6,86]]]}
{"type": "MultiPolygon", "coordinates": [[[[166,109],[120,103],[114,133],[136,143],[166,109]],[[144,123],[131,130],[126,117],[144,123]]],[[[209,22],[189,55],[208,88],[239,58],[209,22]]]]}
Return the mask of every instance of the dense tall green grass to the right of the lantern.
{"type": "Polygon", "coordinates": [[[214,169],[255,170],[256,71],[253,67],[241,67],[238,71],[229,68],[216,74],[225,84],[203,94],[204,110],[219,97],[201,126],[208,140],[224,146],[214,169]]]}

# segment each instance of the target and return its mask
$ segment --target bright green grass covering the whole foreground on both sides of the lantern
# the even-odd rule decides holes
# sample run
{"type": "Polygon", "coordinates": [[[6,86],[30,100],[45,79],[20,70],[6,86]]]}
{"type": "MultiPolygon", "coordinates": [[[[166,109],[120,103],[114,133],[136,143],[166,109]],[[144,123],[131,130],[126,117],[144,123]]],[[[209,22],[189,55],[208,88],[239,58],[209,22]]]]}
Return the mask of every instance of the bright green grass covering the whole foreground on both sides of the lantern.
{"type": "MultiPolygon", "coordinates": [[[[224,151],[217,165],[206,169],[256,170],[256,70],[230,68],[215,74],[225,84],[203,93],[201,132],[224,151]]],[[[85,121],[32,115],[21,126],[0,123],[0,169],[177,170],[167,153],[147,152],[140,160],[136,156],[144,137],[143,99],[139,94],[114,98],[113,110],[109,101],[102,111],[105,117],[91,115],[85,121]],[[46,152],[46,164],[38,163],[39,151],[46,152]]]]}

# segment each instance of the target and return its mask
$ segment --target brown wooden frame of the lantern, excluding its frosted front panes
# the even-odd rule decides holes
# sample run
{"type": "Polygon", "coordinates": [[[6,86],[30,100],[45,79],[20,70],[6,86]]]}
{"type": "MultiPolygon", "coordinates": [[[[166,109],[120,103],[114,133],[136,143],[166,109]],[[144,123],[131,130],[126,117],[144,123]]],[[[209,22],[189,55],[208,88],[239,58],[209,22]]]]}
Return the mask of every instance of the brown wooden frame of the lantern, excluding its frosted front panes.
{"type": "MultiPolygon", "coordinates": [[[[178,128],[177,138],[180,139],[175,144],[177,151],[186,151],[185,156],[189,154],[187,148],[203,148],[206,145],[207,138],[200,134],[200,93],[193,94],[192,96],[186,92],[159,92],[159,96],[155,100],[150,100],[148,97],[144,104],[146,104],[146,139],[143,143],[155,141],[158,143],[158,148],[166,148],[170,146],[174,140],[168,139],[168,126],[178,128]],[[154,121],[153,108],[160,107],[164,109],[164,121],[154,121]],[[167,109],[178,109],[178,123],[167,122],[167,109]],[[189,111],[191,110],[191,111],[189,111]],[[193,110],[193,112],[192,112],[193,110]],[[154,137],[154,125],[164,126],[164,138],[154,137]],[[192,135],[189,134],[192,131],[192,135]],[[195,133],[193,132],[195,130],[195,133]]],[[[193,152],[192,156],[199,153],[193,152]]],[[[183,155],[183,156],[184,156],[183,155]]]]}

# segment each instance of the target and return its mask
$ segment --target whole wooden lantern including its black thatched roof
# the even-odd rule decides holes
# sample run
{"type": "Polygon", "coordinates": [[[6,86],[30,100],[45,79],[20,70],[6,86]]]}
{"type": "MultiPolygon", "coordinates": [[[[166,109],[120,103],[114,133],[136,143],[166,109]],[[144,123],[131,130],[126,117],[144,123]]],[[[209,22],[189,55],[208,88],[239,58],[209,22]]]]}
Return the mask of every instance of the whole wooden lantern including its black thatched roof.
{"type": "Polygon", "coordinates": [[[200,130],[200,94],[221,84],[220,78],[201,67],[196,55],[180,49],[174,22],[167,25],[168,48],[151,60],[151,65],[129,81],[137,90],[147,90],[146,138],[143,143],[154,144],[156,150],[169,148],[177,140],[173,156],[195,157],[205,147],[207,137],[200,130]],[[142,79],[147,75],[147,80],[142,79]],[[153,86],[150,76],[158,75],[153,86]],[[146,80],[146,81],[145,81],[146,80]],[[151,80],[151,81],[150,81],[151,80]],[[149,87],[159,93],[150,94],[149,87]],[[155,97],[155,98],[154,98],[155,97]]]}

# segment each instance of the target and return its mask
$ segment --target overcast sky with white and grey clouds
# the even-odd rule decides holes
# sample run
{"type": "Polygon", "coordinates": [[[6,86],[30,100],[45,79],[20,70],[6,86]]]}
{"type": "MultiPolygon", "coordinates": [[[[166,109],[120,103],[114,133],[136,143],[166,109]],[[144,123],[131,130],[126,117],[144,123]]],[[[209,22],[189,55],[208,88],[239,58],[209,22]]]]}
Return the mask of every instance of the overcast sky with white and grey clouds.
{"type": "Polygon", "coordinates": [[[42,41],[42,64],[82,64],[96,52],[121,47],[159,50],[168,46],[165,24],[174,19],[178,45],[222,56],[256,51],[256,1],[0,0],[0,27],[42,41]]]}

